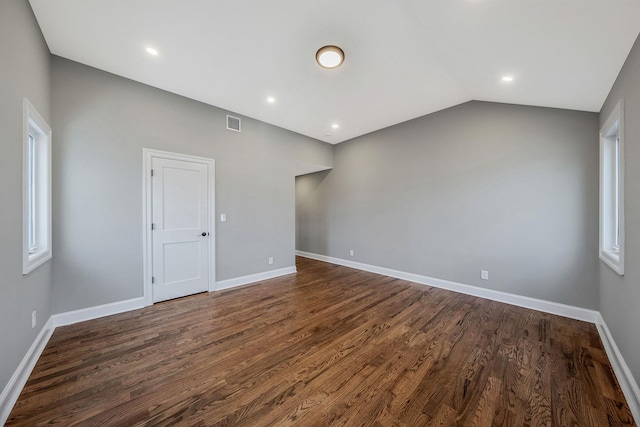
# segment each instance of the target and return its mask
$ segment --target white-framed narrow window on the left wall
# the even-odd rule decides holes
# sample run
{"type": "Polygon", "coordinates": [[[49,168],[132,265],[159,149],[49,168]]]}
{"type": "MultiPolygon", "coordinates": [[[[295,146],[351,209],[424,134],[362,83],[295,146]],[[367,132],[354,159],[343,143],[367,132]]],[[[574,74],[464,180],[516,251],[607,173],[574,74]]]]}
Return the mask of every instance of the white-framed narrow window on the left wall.
{"type": "Polygon", "coordinates": [[[53,257],[51,128],[24,98],[22,141],[22,274],[53,257]]]}

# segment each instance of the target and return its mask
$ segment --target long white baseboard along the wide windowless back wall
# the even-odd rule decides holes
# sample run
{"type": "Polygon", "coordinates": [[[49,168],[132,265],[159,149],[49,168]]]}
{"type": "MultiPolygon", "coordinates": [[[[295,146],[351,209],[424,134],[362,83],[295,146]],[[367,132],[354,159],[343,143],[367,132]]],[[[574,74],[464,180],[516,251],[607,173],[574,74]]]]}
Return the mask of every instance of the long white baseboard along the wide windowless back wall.
{"type": "Polygon", "coordinates": [[[447,289],[461,294],[490,299],[492,301],[504,302],[506,304],[517,305],[519,307],[530,308],[545,313],[557,314],[559,316],[572,319],[583,320],[585,322],[596,323],[599,312],[587,308],[574,307],[557,302],[541,300],[537,298],[525,297],[522,295],[510,294],[508,292],[494,291],[492,289],[480,288],[477,286],[465,285],[463,283],[451,282],[448,280],[436,279],[428,276],[421,276],[414,273],[392,270],[390,268],[378,267],[375,265],[363,264],[349,261],[342,258],[334,258],[325,255],[318,255],[309,252],[296,251],[296,255],[311,258],[318,261],[325,261],[332,264],[343,265],[357,270],[369,271],[371,273],[382,274],[384,276],[395,277],[409,282],[422,285],[434,286],[436,288],[447,289]]]}

